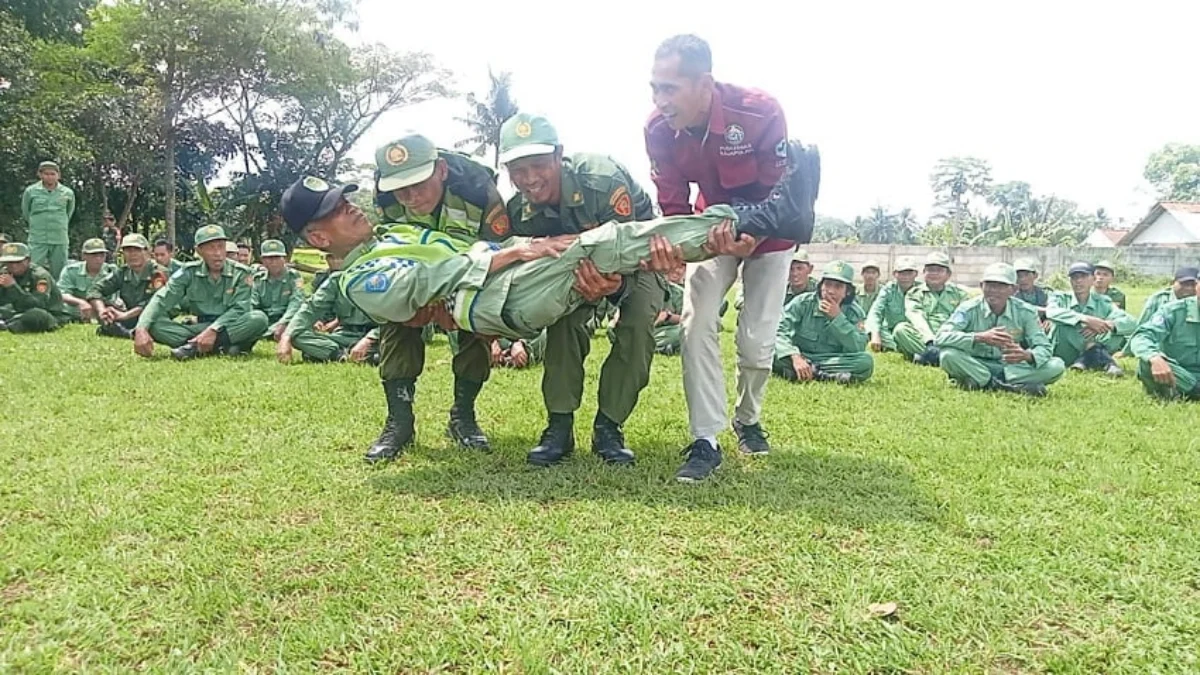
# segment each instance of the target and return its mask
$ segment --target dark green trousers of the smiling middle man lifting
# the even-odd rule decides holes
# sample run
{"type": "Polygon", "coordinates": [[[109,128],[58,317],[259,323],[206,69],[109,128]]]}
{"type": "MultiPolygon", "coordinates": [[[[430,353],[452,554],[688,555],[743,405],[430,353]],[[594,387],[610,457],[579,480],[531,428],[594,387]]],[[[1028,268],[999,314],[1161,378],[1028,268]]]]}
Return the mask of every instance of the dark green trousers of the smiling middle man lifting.
{"type": "MultiPolygon", "coordinates": [[[[662,276],[637,271],[620,303],[620,318],[612,329],[612,350],[600,368],[600,412],[624,424],[642,389],[650,382],[654,359],[654,321],[662,310],[666,282],[662,276]]],[[[583,360],[592,351],[588,321],[593,305],[582,305],[546,329],[546,371],[541,395],[550,413],[574,413],[583,400],[583,360]]]]}

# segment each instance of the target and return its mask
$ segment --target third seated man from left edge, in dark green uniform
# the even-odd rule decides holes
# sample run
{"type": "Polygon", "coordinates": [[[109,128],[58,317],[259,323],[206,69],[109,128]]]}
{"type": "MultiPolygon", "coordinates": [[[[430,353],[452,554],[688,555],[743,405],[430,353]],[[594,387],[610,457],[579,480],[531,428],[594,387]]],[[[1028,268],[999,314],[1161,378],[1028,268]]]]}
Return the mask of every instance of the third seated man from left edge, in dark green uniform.
{"type": "Polygon", "coordinates": [[[150,259],[150,243],[140,234],[126,234],[121,239],[121,253],[125,264],[97,279],[88,289],[88,301],[100,323],[96,335],[130,340],[138,317],[150,298],[167,285],[170,273],[150,259]],[[124,310],[108,304],[113,297],[120,298],[124,310]]]}

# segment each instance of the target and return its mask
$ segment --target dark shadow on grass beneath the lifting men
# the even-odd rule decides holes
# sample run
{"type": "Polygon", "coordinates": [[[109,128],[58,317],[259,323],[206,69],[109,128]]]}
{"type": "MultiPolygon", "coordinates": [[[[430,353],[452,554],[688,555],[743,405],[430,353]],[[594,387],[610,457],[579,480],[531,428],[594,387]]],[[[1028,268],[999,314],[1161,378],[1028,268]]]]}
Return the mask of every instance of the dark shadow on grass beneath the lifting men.
{"type": "MultiPolygon", "coordinates": [[[[512,447],[502,443],[497,446],[512,447]]],[[[726,453],[713,479],[683,484],[674,480],[682,461],[678,452],[648,449],[635,467],[610,467],[580,447],[563,464],[539,468],[524,462],[523,450],[470,455],[416,449],[373,471],[366,482],[383,492],[422,498],[804,512],[816,520],[852,526],[941,520],[936,501],[896,464],[787,449],[754,459],[726,453]]]]}

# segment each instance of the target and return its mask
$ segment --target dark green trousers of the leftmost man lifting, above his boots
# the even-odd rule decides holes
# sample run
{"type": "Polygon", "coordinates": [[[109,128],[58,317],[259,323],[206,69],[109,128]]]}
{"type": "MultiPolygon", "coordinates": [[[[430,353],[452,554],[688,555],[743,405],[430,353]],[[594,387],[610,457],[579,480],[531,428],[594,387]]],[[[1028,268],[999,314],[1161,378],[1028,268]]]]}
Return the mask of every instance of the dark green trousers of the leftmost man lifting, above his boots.
{"type": "MultiPolygon", "coordinates": [[[[416,380],[425,371],[425,345],[433,339],[428,325],[413,328],[402,323],[379,327],[379,378],[416,380]]],[[[492,374],[492,351],[488,342],[474,333],[458,330],[451,340],[455,380],[487,382],[492,374]]]]}

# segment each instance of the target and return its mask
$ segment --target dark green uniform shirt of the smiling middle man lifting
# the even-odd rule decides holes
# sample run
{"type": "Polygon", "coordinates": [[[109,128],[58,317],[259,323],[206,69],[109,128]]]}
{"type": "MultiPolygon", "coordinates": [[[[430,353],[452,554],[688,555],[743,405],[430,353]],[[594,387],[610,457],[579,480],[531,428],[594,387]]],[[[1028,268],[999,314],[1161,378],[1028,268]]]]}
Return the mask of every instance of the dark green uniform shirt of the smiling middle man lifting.
{"type": "Polygon", "coordinates": [[[608,221],[654,217],[654,205],[646,191],[612,157],[590,153],[563,157],[562,181],[558,204],[534,205],[520,192],[509,199],[514,234],[578,234],[608,221]]]}

